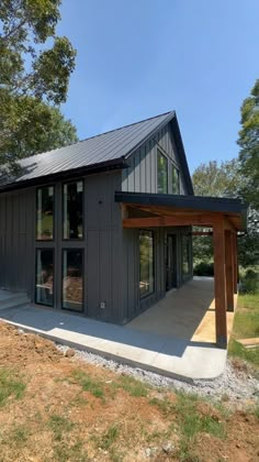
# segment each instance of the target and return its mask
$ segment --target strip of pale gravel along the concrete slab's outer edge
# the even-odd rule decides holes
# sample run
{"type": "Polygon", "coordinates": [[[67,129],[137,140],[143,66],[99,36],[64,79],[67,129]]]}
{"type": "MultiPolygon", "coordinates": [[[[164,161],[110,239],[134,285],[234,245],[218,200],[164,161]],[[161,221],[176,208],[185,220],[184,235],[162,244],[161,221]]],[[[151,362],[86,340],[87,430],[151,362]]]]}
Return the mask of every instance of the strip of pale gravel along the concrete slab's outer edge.
{"type": "MultiPolygon", "coordinates": [[[[70,350],[69,346],[60,344],[57,348],[64,354],[68,354],[68,350],[70,350]]],[[[228,359],[224,374],[214,381],[194,381],[190,384],[139,367],[128,366],[114,360],[106,360],[87,351],[74,351],[75,355],[72,356],[72,361],[79,360],[99,367],[109,369],[119,374],[131,375],[155,387],[194,393],[199,396],[211,397],[215,400],[224,400],[226,403],[235,402],[239,407],[259,402],[259,381],[252,376],[249,366],[238,360],[232,361],[228,359]]]]}

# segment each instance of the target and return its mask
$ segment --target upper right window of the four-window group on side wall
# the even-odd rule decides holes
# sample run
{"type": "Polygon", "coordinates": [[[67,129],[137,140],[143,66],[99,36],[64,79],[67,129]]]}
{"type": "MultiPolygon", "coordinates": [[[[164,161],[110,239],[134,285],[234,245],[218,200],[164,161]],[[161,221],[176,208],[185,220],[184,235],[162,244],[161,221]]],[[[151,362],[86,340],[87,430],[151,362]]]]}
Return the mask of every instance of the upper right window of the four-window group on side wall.
{"type": "Polygon", "coordinates": [[[63,187],[63,238],[82,239],[83,183],[76,182],[63,187]]]}

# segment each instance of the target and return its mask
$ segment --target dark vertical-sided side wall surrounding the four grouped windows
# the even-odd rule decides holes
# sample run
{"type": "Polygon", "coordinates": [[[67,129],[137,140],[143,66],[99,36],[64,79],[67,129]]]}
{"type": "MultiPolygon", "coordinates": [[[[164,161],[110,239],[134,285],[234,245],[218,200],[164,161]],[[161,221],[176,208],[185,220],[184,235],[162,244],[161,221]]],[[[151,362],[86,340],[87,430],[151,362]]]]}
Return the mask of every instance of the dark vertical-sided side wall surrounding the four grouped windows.
{"type": "Polygon", "coordinates": [[[82,241],[63,241],[61,183],[54,186],[54,241],[35,241],[35,188],[0,195],[0,287],[25,292],[34,301],[35,251],[54,249],[54,306],[60,308],[63,250],[82,249],[85,315],[122,322],[122,216],[114,201],[114,191],[121,189],[121,170],[85,178],[82,241]]]}

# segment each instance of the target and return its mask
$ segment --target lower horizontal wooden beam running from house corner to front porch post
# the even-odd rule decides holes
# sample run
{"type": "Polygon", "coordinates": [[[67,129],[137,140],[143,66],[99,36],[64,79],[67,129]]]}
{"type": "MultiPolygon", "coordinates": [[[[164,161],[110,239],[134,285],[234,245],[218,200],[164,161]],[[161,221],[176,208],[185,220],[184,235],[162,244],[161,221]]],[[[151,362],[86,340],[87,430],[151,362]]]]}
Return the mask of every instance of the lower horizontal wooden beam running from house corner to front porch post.
{"type": "Polygon", "coordinates": [[[202,226],[212,228],[214,217],[210,213],[188,217],[146,217],[146,218],[125,218],[123,228],[159,228],[159,227],[191,227],[202,226]]]}

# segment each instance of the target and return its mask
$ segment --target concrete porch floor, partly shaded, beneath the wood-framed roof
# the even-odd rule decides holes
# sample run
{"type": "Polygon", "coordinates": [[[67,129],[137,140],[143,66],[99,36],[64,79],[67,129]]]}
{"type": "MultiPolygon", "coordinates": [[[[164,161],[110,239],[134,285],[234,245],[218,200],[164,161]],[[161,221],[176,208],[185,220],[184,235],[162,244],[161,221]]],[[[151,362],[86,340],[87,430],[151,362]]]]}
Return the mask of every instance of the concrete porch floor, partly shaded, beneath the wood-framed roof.
{"type": "MultiPolygon", "coordinates": [[[[235,306],[237,296],[235,298],[235,306]]],[[[227,312],[227,336],[233,328],[234,312],[227,312]]],[[[147,332],[172,336],[192,342],[216,342],[213,277],[194,277],[173,289],[156,305],[126,326],[147,332]]]]}

